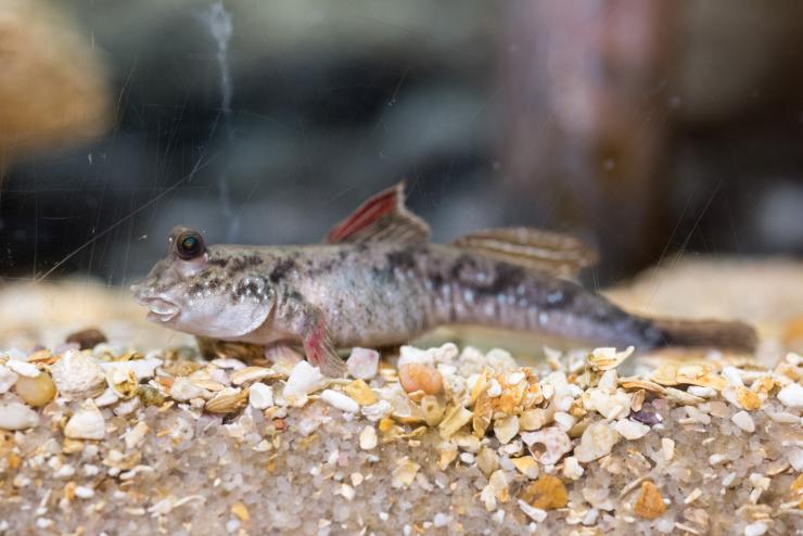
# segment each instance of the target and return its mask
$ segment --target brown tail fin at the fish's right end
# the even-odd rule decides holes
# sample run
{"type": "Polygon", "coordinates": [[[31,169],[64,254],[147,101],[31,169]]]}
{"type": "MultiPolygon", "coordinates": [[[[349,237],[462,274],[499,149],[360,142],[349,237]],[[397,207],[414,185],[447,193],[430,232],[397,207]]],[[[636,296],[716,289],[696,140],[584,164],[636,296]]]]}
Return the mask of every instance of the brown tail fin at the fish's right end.
{"type": "Polygon", "coordinates": [[[714,347],[737,352],[755,352],[759,337],[752,326],[727,320],[653,320],[666,346],[714,347]]]}

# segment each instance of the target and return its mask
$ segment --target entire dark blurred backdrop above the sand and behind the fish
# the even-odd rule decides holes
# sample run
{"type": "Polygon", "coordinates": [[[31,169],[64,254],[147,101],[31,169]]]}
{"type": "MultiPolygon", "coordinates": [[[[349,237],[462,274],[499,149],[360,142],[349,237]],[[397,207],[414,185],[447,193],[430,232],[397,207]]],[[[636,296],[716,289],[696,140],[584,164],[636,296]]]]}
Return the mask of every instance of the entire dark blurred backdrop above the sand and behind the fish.
{"type": "Polygon", "coordinates": [[[4,278],[315,242],[401,178],[436,240],[570,231],[598,284],[803,252],[796,0],[4,0],[0,65],[4,278]]]}

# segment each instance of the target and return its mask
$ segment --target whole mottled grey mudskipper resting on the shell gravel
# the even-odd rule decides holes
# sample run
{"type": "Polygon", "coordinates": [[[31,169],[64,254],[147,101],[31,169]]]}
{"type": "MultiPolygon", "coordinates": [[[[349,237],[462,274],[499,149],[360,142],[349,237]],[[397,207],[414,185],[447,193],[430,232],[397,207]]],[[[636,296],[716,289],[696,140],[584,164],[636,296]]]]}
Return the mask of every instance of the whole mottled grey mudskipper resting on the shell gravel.
{"type": "Polygon", "coordinates": [[[445,324],[639,349],[754,348],[754,330],[738,321],[625,311],[572,279],[595,261],[579,240],[525,227],[432,243],[399,182],[319,244],[207,245],[197,230],[176,227],[167,256],[131,291],[161,326],[266,355],[301,346],[330,374],[344,369],[339,348],[399,345],[445,324]]]}

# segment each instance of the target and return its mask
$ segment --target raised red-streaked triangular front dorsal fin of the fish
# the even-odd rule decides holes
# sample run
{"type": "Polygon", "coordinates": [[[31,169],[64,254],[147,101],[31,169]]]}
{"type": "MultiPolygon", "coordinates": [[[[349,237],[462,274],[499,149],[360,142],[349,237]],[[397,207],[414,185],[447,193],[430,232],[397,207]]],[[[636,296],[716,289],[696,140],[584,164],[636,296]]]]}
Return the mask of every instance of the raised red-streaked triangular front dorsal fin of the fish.
{"type": "Polygon", "coordinates": [[[335,225],[324,242],[426,242],[430,226],[405,206],[405,182],[369,197],[350,216],[335,225]]]}

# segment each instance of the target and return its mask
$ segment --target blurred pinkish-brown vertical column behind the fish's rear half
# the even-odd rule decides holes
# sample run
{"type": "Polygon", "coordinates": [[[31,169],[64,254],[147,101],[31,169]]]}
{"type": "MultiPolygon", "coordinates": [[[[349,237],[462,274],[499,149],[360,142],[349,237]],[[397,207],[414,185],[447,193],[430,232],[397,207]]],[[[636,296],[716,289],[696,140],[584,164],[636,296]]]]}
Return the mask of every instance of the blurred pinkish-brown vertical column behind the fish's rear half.
{"type": "Polygon", "coordinates": [[[504,5],[507,186],[533,201],[537,220],[591,230],[609,275],[654,261],[663,246],[661,168],[683,4],[504,5]]]}

